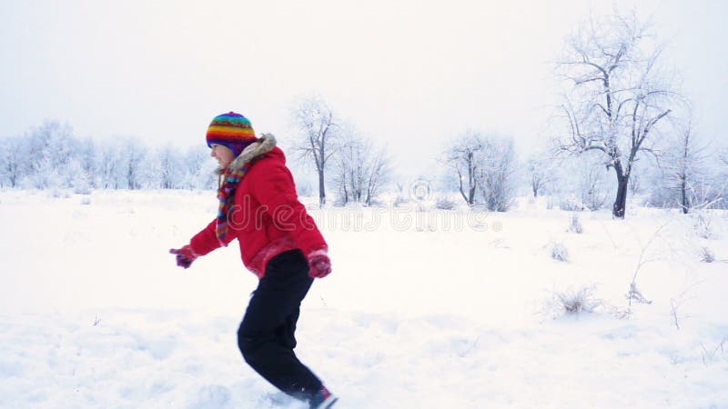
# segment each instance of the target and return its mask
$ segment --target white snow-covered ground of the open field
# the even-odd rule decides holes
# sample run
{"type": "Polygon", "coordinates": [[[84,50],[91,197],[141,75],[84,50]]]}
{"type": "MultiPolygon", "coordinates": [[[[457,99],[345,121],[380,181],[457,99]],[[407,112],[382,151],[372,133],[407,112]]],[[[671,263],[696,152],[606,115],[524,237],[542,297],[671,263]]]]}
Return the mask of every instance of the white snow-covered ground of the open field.
{"type": "MultiPolygon", "coordinates": [[[[167,254],[216,205],[209,192],[0,192],[0,407],[302,407],[238,353],[257,279],[237,246],[188,270],[167,254]]],[[[634,206],[623,221],[580,214],[582,234],[525,202],[312,214],[334,273],[308,294],[297,351],[341,409],[728,408],[726,214],[707,219],[710,239],[694,216],[634,206]],[[635,271],[652,304],[620,318],[635,271]],[[580,290],[601,304],[564,314],[557,295],[580,290]]]]}

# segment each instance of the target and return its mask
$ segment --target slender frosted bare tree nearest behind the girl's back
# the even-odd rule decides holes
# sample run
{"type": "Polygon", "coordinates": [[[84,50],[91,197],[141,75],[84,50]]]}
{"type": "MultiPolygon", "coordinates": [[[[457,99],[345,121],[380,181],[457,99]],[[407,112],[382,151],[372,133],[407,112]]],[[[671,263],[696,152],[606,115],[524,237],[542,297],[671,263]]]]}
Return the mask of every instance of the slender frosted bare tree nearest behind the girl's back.
{"type": "Polygon", "coordinates": [[[312,160],[319,175],[319,205],[326,205],[325,171],[336,152],[338,124],[329,105],[318,95],[303,98],[292,112],[300,140],[296,151],[301,158],[312,160]]]}

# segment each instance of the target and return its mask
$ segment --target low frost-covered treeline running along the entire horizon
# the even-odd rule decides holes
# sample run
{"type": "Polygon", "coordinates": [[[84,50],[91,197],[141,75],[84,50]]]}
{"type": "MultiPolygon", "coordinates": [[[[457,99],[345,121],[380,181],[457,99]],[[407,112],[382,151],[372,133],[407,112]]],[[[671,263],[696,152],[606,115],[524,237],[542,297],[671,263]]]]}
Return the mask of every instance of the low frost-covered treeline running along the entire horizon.
{"type": "MultiPolygon", "coordinates": [[[[320,99],[318,103],[325,105],[320,99]]],[[[329,135],[330,177],[322,182],[336,192],[333,205],[377,205],[378,196],[387,191],[399,191],[397,201],[410,200],[412,186],[390,176],[389,154],[352,129],[339,127],[329,135]]],[[[301,150],[309,142],[307,135],[301,134],[293,152],[307,153],[301,150]]],[[[440,168],[417,182],[429,181],[428,196],[440,192],[440,207],[460,202],[505,212],[518,196],[544,196],[550,207],[595,211],[609,208],[617,190],[614,176],[596,153],[571,156],[544,149],[522,157],[511,136],[472,129],[454,135],[446,145],[450,148],[441,152],[440,168]]],[[[725,208],[728,152],[708,146],[691,133],[676,135],[662,146],[662,160],[643,161],[639,172],[633,173],[629,194],[641,205],[680,208],[685,213],[725,208]]],[[[315,161],[297,165],[316,169],[315,161]]],[[[57,121],[45,121],[23,136],[0,139],[0,187],[5,188],[70,189],[78,194],[96,189],[214,189],[214,170],[205,145],[179,149],[150,147],[135,138],[78,138],[70,125],[57,121]]],[[[310,185],[300,185],[302,194],[316,195],[310,185]]]]}

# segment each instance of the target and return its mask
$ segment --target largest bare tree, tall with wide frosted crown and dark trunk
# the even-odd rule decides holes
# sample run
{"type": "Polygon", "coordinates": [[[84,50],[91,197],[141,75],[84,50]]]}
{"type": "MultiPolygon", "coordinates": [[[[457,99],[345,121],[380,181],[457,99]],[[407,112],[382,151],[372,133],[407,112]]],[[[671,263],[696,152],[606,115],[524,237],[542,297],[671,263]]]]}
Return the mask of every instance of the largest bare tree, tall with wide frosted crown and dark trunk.
{"type": "Polygon", "coordinates": [[[614,169],[614,217],[623,218],[633,165],[654,154],[663,118],[682,102],[662,75],[662,47],[650,26],[630,15],[591,17],[567,38],[566,55],[556,65],[568,85],[561,105],[567,131],[561,150],[572,155],[598,151],[614,169]]]}

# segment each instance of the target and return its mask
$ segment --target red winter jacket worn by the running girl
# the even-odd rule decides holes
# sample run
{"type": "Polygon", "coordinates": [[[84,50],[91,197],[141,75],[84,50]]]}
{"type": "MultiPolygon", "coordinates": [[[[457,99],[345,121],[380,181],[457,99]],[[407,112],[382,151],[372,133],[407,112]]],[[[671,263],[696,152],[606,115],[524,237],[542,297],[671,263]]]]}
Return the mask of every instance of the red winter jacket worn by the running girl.
{"type": "Polygon", "coordinates": [[[237,238],[243,264],[263,278],[268,261],[278,254],[297,248],[306,255],[328,249],[313,218],[298,201],[286,156],[278,147],[248,166],[232,210],[224,242],[217,239],[217,220],[213,220],[192,237],[195,253],[207,254],[237,238]]]}

